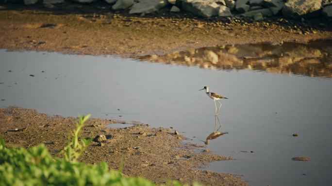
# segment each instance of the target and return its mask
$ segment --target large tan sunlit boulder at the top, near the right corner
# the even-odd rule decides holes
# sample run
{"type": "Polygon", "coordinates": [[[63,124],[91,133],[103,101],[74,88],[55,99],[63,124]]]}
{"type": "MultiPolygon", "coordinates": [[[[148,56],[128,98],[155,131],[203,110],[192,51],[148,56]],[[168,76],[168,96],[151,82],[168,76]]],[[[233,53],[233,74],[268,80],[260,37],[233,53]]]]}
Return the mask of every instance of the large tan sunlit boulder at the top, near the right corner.
{"type": "Polygon", "coordinates": [[[282,14],[286,17],[316,17],[320,14],[322,0],[288,0],[282,14]]]}

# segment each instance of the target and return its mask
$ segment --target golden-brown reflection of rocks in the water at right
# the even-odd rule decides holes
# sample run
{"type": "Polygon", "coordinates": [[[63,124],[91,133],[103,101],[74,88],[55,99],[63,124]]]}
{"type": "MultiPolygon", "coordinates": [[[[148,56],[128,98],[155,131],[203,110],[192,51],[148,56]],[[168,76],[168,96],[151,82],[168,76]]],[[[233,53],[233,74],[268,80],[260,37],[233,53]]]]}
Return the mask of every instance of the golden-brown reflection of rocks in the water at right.
{"type": "Polygon", "coordinates": [[[205,69],[248,69],[273,73],[332,77],[332,40],[309,44],[268,43],[220,45],[188,49],[162,56],[140,57],[141,60],[205,69]]]}

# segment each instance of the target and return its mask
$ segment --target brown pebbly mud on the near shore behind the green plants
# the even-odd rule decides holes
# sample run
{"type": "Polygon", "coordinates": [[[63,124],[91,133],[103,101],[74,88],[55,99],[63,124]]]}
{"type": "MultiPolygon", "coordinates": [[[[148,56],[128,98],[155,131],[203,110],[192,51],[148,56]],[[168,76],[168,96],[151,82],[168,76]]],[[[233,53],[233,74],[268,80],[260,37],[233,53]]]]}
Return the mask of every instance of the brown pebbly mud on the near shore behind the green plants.
{"type": "MultiPolygon", "coordinates": [[[[9,107],[0,109],[0,137],[7,146],[26,148],[44,143],[52,156],[64,148],[68,132],[75,128],[77,118],[49,116],[33,109],[9,107]]],[[[231,160],[232,157],[214,155],[205,146],[188,143],[186,137],[174,129],[149,128],[136,123],[133,127],[106,128],[123,121],[90,119],[82,137],[106,135],[106,142],[93,142],[80,160],[84,163],[105,161],[111,169],[118,169],[124,161],[123,173],[143,176],[157,184],[168,179],[181,183],[197,181],[211,186],[246,186],[239,176],[197,170],[209,162],[231,160]]]]}

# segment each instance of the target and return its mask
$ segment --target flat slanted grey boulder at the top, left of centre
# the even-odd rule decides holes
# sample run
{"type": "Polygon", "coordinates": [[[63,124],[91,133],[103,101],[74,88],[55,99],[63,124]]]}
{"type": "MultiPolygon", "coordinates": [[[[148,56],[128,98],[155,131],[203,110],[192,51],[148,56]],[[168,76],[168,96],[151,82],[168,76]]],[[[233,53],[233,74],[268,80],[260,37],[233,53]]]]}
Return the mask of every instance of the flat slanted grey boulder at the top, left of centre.
{"type": "Polygon", "coordinates": [[[167,0],[140,0],[133,5],[129,14],[149,14],[158,11],[167,4],[167,0]]]}

